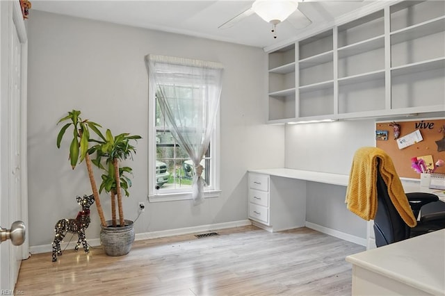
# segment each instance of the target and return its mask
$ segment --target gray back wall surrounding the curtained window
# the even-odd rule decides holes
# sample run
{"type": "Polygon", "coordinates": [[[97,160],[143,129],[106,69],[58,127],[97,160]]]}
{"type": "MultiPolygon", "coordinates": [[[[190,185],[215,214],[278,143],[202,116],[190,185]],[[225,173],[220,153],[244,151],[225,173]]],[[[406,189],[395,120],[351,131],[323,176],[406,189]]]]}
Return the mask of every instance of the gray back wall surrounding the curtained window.
{"type": "MultiPolygon", "coordinates": [[[[262,49],[40,11],[33,11],[28,27],[31,246],[51,243],[56,221],[79,211],[76,195],[91,191],[85,165],[70,168],[68,140],[60,150],[56,147],[56,122],[72,109],[116,134],[143,136],[129,163],[134,172],[131,196],[124,199],[125,215],[132,220],[138,202],[147,204],[136,233],[248,218],[246,170],[284,166],[284,127],[264,124],[267,81],[262,49]],[[191,201],[147,202],[146,54],[211,60],[225,67],[220,106],[223,192],[200,206],[191,201]]],[[[106,194],[101,197],[108,210],[106,194]]],[[[87,237],[98,238],[95,206],[91,213],[87,237]]]]}

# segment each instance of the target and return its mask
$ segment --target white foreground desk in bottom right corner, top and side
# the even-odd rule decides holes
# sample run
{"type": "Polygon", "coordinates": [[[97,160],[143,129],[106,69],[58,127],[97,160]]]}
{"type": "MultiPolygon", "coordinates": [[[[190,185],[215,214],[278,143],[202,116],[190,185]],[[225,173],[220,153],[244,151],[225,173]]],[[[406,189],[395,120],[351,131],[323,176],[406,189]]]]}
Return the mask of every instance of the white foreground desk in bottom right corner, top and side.
{"type": "Polygon", "coordinates": [[[353,295],[445,295],[445,229],[350,255],[353,295]]]}

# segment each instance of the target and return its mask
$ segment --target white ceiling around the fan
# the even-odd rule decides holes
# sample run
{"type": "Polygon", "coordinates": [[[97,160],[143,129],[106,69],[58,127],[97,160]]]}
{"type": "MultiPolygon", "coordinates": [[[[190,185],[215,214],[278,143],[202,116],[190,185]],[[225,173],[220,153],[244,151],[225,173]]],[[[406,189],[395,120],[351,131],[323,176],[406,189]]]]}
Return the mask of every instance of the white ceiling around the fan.
{"type": "MultiPolygon", "coordinates": [[[[181,33],[213,40],[222,40],[254,47],[274,47],[303,35],[306,30],[330,22],[346,13],[359,13],[375,1],[362,0],[307,0],[298,9],[312,20],[306,28],[296,29],[290,22],[277,26],[277,38],[270,32],[271,25],[253,14],[231,28],[221,29],[232,17],[252,6],[247,0],[198,0],[198,1],[44,1],[31,0],[33,10],[72,15],[86,19],[125,24],[159,31],[181,33]]],[[[298,13],[298,12],[297,12],[298,13]]],[[[291,17],[297,17],[293,15],[291,17]]]]}

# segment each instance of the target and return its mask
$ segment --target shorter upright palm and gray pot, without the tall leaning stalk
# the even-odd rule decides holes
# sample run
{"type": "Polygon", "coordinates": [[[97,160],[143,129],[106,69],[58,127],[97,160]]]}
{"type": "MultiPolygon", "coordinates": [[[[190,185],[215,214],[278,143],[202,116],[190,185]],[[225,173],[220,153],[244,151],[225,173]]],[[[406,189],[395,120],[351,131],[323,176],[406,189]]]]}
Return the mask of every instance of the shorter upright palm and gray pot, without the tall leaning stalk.
{"type": "Polygon", "coordinates": [[[99,192],[105,190],[111,196],[112,219],[106,221],[105,226],[102,225],[100,233],[104,251],[110,256],[128,254],[134,241],[133,221],[124,219],[122,208],[122,190],[125,195],[129,196],[128,188],[131,186],[131,180],[125,173],[131,174],[132,170],[131,167],[120,167],[120,161],[127,158],[133,159],[133,153],[136,153],[136,149],[130,142],[140,138],[139,135],[130,135],[129,133],[113,136],[111,131],[107,129],[105,138],[92,140],[97,142],[97,145],[90,149],[91,152],[96,152],[96,158],[92,163],[105,172],[102,174],[99,192]],[[117,197],[119,223],[116,217],[115,197],[117,197]]]}

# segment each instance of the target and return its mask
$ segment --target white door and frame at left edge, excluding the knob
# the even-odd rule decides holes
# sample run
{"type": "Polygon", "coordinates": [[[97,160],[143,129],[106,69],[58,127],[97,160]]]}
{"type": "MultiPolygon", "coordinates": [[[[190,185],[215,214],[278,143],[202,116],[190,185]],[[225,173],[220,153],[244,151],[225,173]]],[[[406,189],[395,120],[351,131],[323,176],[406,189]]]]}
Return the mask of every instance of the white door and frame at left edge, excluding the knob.
{"type": "MultiPolygon", "coordinates": [[[[19,1],[0,1],[0,226],[27,222],[26,30],[19,1]]],[[[0,244],[0,286],[15,287],[28,242],[0,244]]],[[[8,292],[6,292],[8,293],[8,292]]]]}

